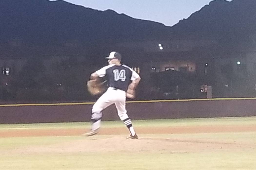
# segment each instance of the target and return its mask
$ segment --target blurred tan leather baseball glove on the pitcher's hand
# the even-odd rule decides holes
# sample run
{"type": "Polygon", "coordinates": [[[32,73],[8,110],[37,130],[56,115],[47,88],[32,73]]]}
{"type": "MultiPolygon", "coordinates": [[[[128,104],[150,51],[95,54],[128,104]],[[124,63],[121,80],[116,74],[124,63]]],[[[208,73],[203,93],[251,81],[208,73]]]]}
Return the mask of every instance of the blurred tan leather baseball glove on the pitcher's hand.
{"type": "Polygon", "coordinates": [[[106,90],[104,85],[106,81],[101,82],[100,80],[93,79],[87,82],[87,89],[91,95],[102,94],[106,90]]]}

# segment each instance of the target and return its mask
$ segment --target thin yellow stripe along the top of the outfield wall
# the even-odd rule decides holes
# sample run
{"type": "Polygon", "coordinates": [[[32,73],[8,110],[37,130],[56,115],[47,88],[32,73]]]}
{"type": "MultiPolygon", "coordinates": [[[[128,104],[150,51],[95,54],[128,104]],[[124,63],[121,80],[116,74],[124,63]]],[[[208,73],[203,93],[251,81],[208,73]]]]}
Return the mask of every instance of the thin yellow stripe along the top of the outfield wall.
{"type": "MultiPolygon", "coordinates": [[[[178,99],[178,100],[138,100],[126,101],[126,103],[156,103],[156,102],[182,102],[182,101],[210,101],[210,100],[255,100],[253,98],[212,98],[212,99],[178,99]]],[[[9,106],[61,106],[61,105],[84,105],[94,104],[95,102],[81,102],[81,103],[27,103],[27,104],[1,104],[0,107],[9,106]]]]}

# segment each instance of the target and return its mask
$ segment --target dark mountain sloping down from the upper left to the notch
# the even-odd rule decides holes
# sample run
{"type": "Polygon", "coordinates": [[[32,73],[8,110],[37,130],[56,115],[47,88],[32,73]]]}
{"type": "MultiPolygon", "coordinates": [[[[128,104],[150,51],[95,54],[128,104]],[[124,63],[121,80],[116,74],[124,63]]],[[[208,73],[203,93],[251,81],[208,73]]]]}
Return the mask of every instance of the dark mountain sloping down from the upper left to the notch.
{"type": "Polygon", "coordinates": [[[168,29],[161,23],[65,1],[1,0],[0,16],[2,41],[15,39],[34,45],[148,40],[168,29]]]}

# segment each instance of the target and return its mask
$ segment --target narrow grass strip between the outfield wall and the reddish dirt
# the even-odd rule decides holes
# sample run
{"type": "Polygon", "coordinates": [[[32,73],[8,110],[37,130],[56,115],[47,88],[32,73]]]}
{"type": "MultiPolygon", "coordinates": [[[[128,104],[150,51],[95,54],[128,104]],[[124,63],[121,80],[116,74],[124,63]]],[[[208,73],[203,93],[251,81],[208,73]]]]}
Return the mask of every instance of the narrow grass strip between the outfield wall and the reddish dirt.
{"type": "MultiPolygon", "coordinates": [[[[219,117],[189,119],[132,120],[134,127],[174,127],[174,126],[208,126],[208,125],[256,125],[256,116],[252,117],[219,117]]],[[[33,123],[33,124],[0,124],[0,130],[7,129],[48,129],[48,128],[89,128],[91,122],[68,123],[33,123]]],[[[123,127],[122,121],[102,121],[103,128],[123,127]]]]}

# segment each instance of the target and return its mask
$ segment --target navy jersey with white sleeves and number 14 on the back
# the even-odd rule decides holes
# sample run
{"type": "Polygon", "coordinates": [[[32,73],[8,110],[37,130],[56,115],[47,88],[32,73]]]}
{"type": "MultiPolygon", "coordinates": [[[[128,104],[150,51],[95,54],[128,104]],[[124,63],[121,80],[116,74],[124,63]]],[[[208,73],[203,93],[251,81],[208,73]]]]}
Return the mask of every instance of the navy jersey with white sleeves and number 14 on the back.
{"type": "Polygon", "coordinates": [[[95,73],[97,73],[100,77],[106,76],[110,87],[115,87],[124,91],[127,91],[131,81],[134,81],[140,77],[134,70],[124,64],[121,64],[120,66],[110,64],[101,68],[95,73]]]}

